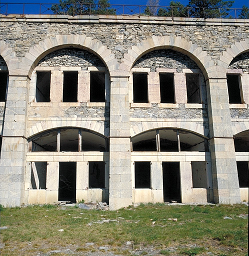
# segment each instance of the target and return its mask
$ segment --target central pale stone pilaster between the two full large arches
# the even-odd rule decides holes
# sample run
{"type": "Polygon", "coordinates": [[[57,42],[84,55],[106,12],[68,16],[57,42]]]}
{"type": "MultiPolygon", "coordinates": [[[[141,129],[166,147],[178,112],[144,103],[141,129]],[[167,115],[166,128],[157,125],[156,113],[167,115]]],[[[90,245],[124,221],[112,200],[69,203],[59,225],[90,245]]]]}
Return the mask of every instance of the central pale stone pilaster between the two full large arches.
{"type": "Polygon", "coordinates": [[[128,77],[111,77],[109,206],[132,204],[128,77]]]}

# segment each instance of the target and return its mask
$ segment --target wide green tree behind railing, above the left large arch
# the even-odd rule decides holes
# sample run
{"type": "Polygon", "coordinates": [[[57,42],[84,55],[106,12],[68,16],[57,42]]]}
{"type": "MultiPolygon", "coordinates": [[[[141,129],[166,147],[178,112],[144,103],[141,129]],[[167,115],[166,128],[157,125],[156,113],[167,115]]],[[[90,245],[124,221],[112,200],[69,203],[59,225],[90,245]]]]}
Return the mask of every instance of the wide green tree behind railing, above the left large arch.
{"type": "Polygon", "coordinates": [[[59,0],[53,4],[51,10],[55,14],[83,15],[83,14],[108,14],[115,15],[109,0],[59,0]]]}

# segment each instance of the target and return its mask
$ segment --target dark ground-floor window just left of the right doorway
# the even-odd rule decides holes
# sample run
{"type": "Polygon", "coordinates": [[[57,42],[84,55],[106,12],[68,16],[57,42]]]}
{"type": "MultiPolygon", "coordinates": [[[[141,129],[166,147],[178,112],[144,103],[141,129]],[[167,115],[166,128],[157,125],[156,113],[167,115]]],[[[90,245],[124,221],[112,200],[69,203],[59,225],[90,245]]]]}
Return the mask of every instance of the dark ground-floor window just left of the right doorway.
{"type": "Polygon", "coordinates": [[[135,188],[150,187],[150,162],[135,162],[135,188]]]}

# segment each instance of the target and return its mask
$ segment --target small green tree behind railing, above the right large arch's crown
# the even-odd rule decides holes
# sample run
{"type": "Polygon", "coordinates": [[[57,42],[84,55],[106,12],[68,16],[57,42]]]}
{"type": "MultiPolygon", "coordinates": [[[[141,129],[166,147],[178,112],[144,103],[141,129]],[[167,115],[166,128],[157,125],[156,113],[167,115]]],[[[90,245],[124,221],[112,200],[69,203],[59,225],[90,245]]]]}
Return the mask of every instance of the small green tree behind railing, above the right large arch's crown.
{"type": "Polygon", "coordinates": [[[159,8],[158,16],[161,17],[186,17],[187,8],[178,1],[170,1],[169,7],[159,8]]]}

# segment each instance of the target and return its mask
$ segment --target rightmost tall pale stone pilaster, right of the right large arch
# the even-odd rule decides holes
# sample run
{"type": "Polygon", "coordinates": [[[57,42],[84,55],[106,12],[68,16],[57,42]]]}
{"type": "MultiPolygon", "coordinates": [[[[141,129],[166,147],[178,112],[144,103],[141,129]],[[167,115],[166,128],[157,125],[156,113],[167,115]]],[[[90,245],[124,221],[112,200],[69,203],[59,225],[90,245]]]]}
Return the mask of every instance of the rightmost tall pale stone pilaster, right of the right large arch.
{"type": "Polygon", "coordinates": [[[240,192],[225,77],[208,80],[207,101],[213,199],[216,203],[239,203],[240,192]]]}

